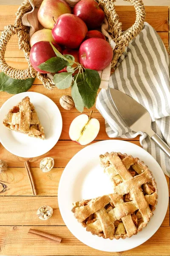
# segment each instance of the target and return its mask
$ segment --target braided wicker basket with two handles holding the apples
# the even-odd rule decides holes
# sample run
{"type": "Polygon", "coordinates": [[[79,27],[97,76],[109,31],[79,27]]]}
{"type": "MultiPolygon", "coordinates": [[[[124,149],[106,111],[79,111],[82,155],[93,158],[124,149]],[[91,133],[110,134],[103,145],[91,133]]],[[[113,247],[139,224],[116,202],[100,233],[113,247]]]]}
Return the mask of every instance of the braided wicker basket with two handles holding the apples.
{"type": "MultiPolygon", "coordinates": [[[[124,52],[125,46],[129,44],[129,41],[136,37],[142,30],[145,18],[144,5],[142,0],[128,0],[136,10],[136,21],[128,31],[122,35],[122,23],[119,22],[119,16],[116,13],[114,2],[115,0],[97,0],[105,12],[105,17],[109,24],[109,34],[113,41],[116,43],[116,48],[113,52],[113,60],[111,66],[115,67],[119,57],[124,52]]],[[[14,25],[8,25],[2,32],[0,37],[0,70],[2,70],[7,76],[13,79],[27,79],[36,77],[42,81],[44,86],[48,89],[54,87],[54,81],[49,79],[46,74],[41,74],[34,70],[29,61],[30,44],[29,44],[29,27],[23,26],[22,17],[25,13],[31,11],[32,7],[28,0],[25,0],[19,7],[16,13],[16,20],[14,25]],[[28,61],[28,68],[26,70],[15,69],[8,66],[5,61],[4,55],[6,51],[6,45],[11,36],[17,34],[19,49],[22,49],[26,60],[28,61]]]]}

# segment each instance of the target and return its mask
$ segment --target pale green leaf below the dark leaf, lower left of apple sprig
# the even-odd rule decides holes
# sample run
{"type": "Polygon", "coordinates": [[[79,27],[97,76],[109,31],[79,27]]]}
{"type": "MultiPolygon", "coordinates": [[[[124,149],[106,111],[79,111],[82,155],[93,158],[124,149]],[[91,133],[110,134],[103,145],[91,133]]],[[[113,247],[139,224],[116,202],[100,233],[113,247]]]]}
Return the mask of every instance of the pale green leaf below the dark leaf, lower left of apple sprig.
{"type": "Polygon", "coordinates": [[[59,89],[66,89],[71,86],[72,73],[62,72],[54,75],[54,83],[59,89]]]}

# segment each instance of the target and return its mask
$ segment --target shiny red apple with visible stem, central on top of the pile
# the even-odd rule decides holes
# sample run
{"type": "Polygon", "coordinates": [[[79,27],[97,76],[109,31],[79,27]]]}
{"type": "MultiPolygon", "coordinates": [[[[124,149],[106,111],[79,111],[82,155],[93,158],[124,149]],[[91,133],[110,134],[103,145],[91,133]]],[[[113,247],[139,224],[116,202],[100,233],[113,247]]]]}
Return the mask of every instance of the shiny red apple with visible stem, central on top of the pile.
{"type": "Polygon", "coordinates": [[[75,49],[85,38],[88,28],[79,17],[73,14],[63,14],[57,19],[52,35],[57,44],[75,49]]]}

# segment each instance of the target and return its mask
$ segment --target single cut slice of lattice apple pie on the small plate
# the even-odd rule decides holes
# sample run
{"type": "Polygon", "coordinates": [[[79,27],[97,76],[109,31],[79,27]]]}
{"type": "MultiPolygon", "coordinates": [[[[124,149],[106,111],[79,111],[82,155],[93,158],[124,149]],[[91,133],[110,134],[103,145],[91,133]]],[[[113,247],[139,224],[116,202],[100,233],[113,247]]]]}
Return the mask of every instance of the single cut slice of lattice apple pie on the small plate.
{"type": "Polygon", "coordinates": [[[7,113],[3,124],[12,131],[18,131],[42,140],[45,139],[44,128],[40,124],[37,112],[28,96],[7,113]]]}

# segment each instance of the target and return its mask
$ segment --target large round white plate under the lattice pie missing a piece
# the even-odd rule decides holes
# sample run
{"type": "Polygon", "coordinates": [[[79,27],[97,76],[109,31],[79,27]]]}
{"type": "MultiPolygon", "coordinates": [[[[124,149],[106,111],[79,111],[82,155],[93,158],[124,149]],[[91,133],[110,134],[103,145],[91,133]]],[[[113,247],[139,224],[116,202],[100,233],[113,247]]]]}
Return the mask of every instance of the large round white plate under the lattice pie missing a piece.
{"type": "Polygon", "coordinates": [[[71,233],[88,246],[119,252],[132,249],[149,239],[159,229],[168,206],[168,186],[164,173],[156,160],[143,148],[121,140],[105,140],[88,145],[79,151],[65,167],[59,182],[58,202],[62,218],[71,233]],[[147,164],[157,183],[158,204],[147,227],[136,236],[126,239],[103,239],[87,232],[71,212],[72,202],[90,199],[113,192],[111,182],[99,165],[99,155],[105,152],[121,152],[139,157],[147,164]]]}

